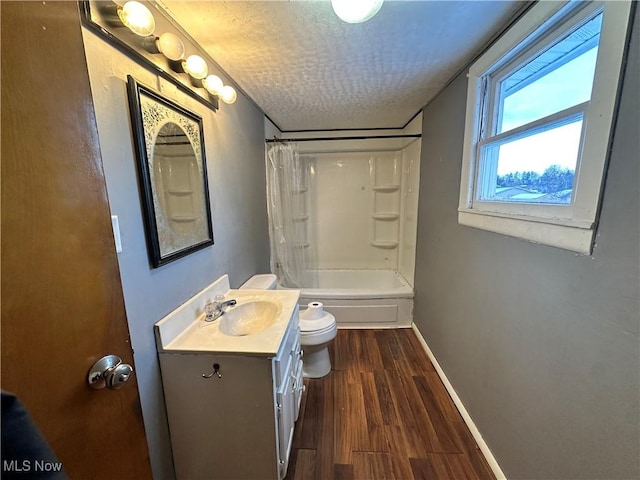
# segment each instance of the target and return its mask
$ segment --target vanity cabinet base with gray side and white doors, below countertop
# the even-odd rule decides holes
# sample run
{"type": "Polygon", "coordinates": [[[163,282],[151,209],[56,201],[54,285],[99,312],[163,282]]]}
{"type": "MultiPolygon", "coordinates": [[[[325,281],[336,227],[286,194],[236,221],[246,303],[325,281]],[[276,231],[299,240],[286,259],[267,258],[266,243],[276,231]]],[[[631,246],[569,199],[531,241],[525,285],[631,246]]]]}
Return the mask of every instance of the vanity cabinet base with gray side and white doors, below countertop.
{"type": "Polygon", "coordinates": [[[297,308],[275,356],[159,351],[177,478],[284,478],[301,356],[297,308]]]}

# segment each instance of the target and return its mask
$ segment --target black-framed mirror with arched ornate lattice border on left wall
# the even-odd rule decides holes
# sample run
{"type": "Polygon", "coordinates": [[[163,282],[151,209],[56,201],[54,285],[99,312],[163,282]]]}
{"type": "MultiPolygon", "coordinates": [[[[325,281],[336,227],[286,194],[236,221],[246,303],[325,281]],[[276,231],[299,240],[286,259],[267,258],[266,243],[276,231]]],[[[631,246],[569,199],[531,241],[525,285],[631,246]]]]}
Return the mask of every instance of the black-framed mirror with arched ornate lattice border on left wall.
{"type": "Polygon", "coordinates": [[[127,76],[149,259],[213,245],[202,119],[127,76]]]}

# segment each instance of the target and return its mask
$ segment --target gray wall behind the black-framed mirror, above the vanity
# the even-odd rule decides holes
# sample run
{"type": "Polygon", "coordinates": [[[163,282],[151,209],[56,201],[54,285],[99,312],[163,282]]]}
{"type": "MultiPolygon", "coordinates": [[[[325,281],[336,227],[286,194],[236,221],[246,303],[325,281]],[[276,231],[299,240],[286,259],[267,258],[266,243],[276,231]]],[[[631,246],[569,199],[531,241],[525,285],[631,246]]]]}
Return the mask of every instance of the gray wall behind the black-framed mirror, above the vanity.
{"type": "MultiPolygon", "coordinates": [[[[84,31],[109,204],[118,215],[118,255],[154,478],[173,478],[173,463],[153,325],[228,273],[232,287],[269,270],[264,116],[243,95],[213,112],[162,84],[163,93],[203,119],[215,245],[158,269],[147,256],[127,105],[126,76],[153,88],[158,79],[84,31]]],[[[225,82],[226,83],[226,82],[225,82]]],[[[117,352],[109,352],[117,353],[117,352]]]]}

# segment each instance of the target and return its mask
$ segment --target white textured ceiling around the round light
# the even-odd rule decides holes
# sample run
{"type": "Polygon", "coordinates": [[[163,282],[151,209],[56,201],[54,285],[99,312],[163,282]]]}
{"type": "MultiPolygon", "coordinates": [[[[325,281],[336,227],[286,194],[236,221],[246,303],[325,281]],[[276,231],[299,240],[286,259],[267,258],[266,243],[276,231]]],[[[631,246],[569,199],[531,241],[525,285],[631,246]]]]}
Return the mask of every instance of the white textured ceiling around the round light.
{"type": "Polygon", "coordinates": [[[329,1],[162,5],[281,130],[295,131],[403,127],[523,3],[386,1],[361,24],[342,22],[329,1]]]}

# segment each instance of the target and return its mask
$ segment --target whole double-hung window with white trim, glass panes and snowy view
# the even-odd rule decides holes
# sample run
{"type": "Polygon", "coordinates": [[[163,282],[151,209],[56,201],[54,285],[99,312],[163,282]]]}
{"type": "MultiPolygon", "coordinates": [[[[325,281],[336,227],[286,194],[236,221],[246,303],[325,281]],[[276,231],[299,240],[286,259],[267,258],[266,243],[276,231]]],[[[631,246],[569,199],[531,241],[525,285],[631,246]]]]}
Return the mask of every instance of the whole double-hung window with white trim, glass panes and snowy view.
{"type": "Polygon", "coordinates": [[[469,71],[458,221],[590,253],[630,2],[539,2],[469,71]]]}

